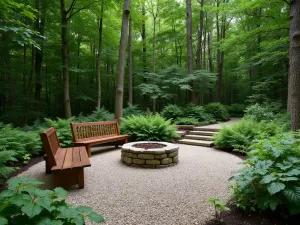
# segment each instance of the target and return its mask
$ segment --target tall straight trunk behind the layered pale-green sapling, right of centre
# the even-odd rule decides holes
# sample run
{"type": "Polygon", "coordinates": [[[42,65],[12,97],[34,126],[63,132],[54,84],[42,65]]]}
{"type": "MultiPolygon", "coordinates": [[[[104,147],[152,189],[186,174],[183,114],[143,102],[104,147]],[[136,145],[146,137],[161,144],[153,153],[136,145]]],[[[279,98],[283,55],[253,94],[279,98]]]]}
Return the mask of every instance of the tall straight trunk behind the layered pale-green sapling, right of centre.
{"type": "MultiPolygon", "coordinates": [[[[192,6],[191,0],[186,0],[186,41],[187,41],[187,63],[188,63],[188,74],[194,72],[193,63],[193,40],[192,40],[192,6]]],[[[189,102],[195,103],[195,90],[194,82],[190,83],[192,91],[189,91],[189,102]]]]}

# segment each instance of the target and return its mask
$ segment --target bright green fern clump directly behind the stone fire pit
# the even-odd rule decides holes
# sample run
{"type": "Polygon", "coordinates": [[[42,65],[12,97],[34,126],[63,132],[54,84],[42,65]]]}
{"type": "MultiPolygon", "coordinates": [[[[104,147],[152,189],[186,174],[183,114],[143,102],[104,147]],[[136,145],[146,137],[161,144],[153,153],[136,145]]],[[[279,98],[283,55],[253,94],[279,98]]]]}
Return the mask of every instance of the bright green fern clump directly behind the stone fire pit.
{"type": "Polygon", "coordinates": [[[171,141],[177,137],[175,125],[159,114],[138,115],[124,118],[122,133],[130,134],[133,141],[171,141]]]}

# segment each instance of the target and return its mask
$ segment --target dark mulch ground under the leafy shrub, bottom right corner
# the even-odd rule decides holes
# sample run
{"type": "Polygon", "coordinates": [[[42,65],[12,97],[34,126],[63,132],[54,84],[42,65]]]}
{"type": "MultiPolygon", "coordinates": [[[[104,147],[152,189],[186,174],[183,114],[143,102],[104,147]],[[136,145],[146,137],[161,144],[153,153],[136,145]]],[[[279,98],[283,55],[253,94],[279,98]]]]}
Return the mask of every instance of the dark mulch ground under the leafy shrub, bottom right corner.
{"type": "MultiPolygon", "coordinates": [[[[280,217],[280,213],[261,215],[258,212],[245,212],[234,205],[228,205],[230,211],[223,212],[221,225],[299,225],[300,215],[288,218],[280,217]]],[[[216,220],[207,222],[206,225],[217,225],[216,220]]]]}

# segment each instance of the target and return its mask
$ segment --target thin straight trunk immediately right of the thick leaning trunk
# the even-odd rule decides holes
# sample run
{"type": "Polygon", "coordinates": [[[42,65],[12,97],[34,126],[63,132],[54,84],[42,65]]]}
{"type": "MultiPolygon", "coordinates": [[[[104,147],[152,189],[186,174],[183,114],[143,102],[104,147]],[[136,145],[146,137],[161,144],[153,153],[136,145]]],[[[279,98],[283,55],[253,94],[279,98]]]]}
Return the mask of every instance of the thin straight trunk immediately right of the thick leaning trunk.
{"type": "Polygon", "coordinates": [[[132,20],[129,20],[128,35],[128,102],[133,104],[133,86],[132,86],[132,20]]]}

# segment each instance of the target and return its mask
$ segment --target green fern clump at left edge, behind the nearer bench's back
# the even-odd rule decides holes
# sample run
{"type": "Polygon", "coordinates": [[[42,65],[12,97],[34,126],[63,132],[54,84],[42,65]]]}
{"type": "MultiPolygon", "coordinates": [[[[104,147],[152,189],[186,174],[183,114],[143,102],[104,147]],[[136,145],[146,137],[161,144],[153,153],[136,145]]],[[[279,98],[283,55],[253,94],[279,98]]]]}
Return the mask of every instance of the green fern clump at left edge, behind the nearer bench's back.
{"type": "Polygon", "coordinates": [[[37,132],[24,132],[11,124],[3,125],[0,129],[0,151],[13,151],[14,157],[23,163],[28,156],[42,152],[40,137],[37,132]]]}

